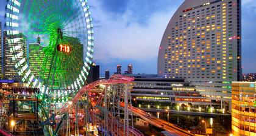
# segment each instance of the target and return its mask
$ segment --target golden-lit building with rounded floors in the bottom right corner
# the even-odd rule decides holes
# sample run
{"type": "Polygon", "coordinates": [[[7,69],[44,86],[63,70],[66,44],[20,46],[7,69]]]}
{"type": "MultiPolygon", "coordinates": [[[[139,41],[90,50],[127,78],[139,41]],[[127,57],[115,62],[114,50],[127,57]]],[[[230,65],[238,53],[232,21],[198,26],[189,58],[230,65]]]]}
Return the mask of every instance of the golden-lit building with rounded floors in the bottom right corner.
{"type": "Polygon", "coordinates": [[[256,82],[232,83],[232,134],[256,135],[256,82]]]}

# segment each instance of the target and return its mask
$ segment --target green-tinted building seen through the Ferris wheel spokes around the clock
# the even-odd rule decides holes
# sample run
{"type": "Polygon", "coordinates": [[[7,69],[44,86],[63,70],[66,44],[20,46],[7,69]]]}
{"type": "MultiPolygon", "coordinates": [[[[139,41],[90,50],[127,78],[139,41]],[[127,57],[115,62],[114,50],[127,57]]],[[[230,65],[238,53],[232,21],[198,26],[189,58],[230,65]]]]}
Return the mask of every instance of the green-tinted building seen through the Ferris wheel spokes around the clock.
{"type": "MultiPolygon", "coordinates": [[[[62,79],[62,81],[69,81],[70,73],[77,74],[77,76],[80,73],[79,69],[74,69],[75,67],[69,67],[73,66],[75,64],[77,67],[82,67],[84,64],[83,61],[83,45],[80,43],[79,39],[64,36],[65,42],[69,44],[69,46],[73,49],[72,52],[69,52],[69,57],[62,62],[64,63],[56,63],[57,66],[62,67],[61,70],[57,70],[58,76],[55,74],[55,82],[59,81],[59,78],[62,79]],[[65,63],[69,63],[66,65],[65,63]],[[73,63],[73,64],[72,64],[73,63]]],[[[33,73],[36,77],[40,77],[40,80],[48,81],[48,77],[52,77],[52,75],[49,75],[49,71],[51,70],[51,61],[53,56],[49,55],[47,53],[49,51],[48,47],[43,47],[40,44],[40,37],[37,39],[34,39],[37,41],[37,43],[29,44],[29,69],[31,73],[33,73]]],[[[61,58],[57,58],[60,60],[61,58]]]]}

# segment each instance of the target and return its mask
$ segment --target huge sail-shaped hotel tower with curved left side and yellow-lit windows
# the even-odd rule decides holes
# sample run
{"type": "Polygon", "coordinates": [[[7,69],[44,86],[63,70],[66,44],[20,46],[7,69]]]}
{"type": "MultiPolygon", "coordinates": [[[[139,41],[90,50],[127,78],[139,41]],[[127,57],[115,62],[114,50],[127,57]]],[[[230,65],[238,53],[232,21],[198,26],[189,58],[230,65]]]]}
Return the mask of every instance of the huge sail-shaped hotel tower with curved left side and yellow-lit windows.
{"type": "Polygon", "coordinates": [[[163,35],[158,75],[185,78],[230,109],[231,81],[241,79],[241,0],[183,2],[163,35]]]}

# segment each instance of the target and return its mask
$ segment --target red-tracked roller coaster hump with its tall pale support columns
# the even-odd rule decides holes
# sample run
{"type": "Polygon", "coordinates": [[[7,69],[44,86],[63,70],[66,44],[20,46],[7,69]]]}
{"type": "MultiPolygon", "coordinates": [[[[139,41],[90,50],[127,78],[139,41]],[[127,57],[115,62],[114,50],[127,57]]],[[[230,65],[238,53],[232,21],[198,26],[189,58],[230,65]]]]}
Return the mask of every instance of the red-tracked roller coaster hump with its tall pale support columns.
{"type": "Polygon", "coordinates": [[[99,80],[82,87],[73,100],[60,109],[69,118],[64,123],[67,127],[61,127],[59,131],[71,134],[73,131],[66,128],[73,128],[74,124],[75,135],[81,132],[86,135],[91,132],[100,135],[143,135],[133,127],[132,112],[128,108],[131,102],[130,81],[133,78],[113,75],[110,80],[99,80]]]}

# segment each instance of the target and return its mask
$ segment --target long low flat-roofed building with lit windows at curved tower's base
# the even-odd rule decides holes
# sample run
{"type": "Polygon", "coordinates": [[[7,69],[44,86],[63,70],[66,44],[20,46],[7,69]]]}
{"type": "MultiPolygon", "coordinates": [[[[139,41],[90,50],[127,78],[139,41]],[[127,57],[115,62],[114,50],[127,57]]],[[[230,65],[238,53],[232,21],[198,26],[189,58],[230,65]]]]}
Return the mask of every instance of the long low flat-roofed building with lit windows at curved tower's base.
{"type": "MultiPolygon", "coordinates": [[[[133,105],[147,111],[184,110],[223,114],[221,101],[210,100],[182,78],[138,78],[131,83],[133,105]]],[[[157,111],[157,112],[158,112],[157,111]]]]}

